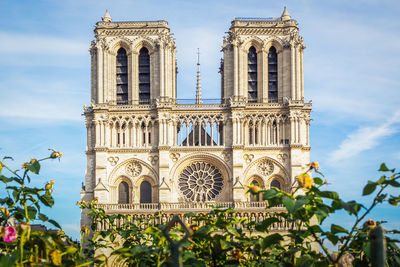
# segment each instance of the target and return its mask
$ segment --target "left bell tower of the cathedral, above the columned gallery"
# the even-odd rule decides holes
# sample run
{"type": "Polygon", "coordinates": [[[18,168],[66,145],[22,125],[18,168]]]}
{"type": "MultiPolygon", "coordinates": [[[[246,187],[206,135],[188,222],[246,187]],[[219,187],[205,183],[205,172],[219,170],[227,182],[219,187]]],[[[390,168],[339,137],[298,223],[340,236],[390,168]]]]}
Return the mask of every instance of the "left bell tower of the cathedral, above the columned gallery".
{"type": "Polygon", "coordinates": [[[97,22],[90,47],[92,103],[150,104],[176,98],[175,40],[168,22],[97,22]]]}

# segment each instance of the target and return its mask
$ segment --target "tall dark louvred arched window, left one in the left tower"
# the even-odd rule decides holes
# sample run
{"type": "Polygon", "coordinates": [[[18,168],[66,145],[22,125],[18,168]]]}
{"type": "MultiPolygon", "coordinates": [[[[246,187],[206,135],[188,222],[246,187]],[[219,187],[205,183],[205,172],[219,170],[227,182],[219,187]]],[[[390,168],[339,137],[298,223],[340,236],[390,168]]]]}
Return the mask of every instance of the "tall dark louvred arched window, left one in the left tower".
{"type": "Polygon", "coordinates": [[[117,52],[117,104],[128,104],[128,57],[122,47],[117,52]]]}

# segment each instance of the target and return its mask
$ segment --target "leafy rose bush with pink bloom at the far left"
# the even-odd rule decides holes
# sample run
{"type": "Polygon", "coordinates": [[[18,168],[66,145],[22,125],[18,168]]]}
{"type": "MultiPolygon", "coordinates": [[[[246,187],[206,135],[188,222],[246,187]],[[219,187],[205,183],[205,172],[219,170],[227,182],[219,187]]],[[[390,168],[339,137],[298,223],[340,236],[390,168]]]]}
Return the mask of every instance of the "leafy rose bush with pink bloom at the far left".
{"type": "Polygon", "coordinates": [[[86,259],[80,256],[79,248],[60,225],[42,212],[43,207],[52,207],[53,185],[51,180],[43,187],[31,187],[31,179],[40,172],[40,162],[60,159],[62,154],[51,150],[48,157],[32,159],[22,168],[12,170],[0,161],[0,266],[84,266],[86,259]],[[6,176],[8,173],[8,176],[6,176]],[[3,196],[3,195],[2,195],[3,196]],[[50,223],[59,231],[33,231],[32,221],[50,223]]]}

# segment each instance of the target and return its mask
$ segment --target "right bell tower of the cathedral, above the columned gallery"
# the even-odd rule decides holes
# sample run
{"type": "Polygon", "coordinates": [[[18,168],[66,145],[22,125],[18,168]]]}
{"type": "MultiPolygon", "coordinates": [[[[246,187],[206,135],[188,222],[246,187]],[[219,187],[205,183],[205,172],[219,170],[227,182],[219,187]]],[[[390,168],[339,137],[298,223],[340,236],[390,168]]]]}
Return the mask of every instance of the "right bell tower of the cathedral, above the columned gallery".
{"type": "Polygon", "coordinates": [[[304,48],[286,7],[279,18],[235,18],[222,46],[222,98],[255,103],[302,100],[304,48]]]}

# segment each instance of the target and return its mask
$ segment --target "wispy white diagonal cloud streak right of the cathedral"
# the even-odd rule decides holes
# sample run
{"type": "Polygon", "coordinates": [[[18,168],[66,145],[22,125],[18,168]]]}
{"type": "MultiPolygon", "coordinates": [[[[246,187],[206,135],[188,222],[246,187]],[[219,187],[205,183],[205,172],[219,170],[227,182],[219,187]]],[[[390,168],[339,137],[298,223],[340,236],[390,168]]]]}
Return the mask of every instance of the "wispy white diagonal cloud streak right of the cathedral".
{"type": "Polygon", "coordinates": [[[398,110],[389,120],[378,126],[368,126],[359,128],[350,133],[340,144],[339,149],[330,155],[331,162],[337,162],[351,158],[362,151],[374,148],[379,141],[386,136],[390,136],[399,131],[400,110],[398,110]]]}

